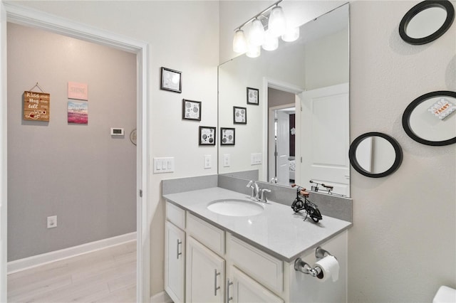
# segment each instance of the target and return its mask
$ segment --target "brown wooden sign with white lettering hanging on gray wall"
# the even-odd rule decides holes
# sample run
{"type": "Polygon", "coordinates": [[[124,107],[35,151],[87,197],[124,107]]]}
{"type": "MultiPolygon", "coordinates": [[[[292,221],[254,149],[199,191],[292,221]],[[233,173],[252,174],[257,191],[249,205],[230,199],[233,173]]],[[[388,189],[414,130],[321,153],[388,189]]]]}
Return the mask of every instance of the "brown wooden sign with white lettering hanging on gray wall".
{"type": "Polygon", "coordinates": [[[24,92],[24,120],[49,121],[51,94],[24,92]]]}

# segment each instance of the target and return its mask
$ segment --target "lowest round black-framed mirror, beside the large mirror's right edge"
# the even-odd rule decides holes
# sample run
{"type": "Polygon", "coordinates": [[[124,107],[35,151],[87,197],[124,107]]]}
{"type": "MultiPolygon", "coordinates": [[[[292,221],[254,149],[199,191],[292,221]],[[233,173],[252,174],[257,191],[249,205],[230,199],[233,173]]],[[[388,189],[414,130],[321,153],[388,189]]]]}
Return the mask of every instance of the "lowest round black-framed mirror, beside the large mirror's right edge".
{"type": "Polygon", "coordinates": [[[403,154],[399,143],[388,134],[367,132],[353,140],[348,157],[358,173],[380,178],[399,168],[403,154]]]}

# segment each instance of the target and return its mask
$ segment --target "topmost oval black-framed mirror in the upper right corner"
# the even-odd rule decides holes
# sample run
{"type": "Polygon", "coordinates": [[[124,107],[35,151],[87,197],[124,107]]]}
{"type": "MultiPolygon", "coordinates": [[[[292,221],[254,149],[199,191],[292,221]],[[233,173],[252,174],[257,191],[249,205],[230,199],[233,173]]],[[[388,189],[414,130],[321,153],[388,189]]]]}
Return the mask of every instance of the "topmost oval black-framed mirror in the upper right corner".
{"type": "Polygon", "coordinates": [[[403,41],[421,45],[442,36],[455,19],[455,8],[447,0],[427,0],[413,6],[400,21],[403,41]]]}

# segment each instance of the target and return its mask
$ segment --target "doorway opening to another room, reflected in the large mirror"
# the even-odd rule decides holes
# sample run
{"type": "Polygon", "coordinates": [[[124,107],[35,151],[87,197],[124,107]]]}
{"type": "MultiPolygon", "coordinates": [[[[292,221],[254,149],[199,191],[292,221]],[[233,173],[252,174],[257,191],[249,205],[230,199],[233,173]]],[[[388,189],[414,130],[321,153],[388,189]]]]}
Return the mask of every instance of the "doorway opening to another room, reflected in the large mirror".
{"type": "Polygon", "coordinates": [[[295,168],[295,95],[268,88],[269,129],[268,180],[289,186],[295,168]]]}

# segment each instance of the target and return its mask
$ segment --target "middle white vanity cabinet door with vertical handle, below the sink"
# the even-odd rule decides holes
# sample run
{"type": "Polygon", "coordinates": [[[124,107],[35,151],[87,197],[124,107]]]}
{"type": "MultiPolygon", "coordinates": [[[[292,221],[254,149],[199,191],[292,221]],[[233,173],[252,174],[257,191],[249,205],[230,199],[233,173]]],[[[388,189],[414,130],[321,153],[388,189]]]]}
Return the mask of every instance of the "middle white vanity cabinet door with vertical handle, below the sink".
{"type": "Polygon", "coordinates": [[[187,238],[186,302],[223,303],[224,262],[194,238],[187,238]]]}

